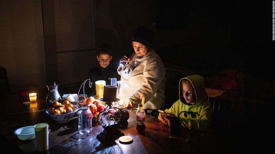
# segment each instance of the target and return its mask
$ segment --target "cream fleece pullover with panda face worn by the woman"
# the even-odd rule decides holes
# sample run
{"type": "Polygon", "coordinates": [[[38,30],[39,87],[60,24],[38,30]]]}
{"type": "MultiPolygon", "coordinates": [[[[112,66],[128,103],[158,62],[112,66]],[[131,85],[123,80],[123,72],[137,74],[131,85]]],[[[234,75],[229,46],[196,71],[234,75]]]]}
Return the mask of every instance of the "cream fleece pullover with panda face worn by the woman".
{"type": "Polygon", "coordinates": [[[141,103],[142,97],[145,97],[144,109],[164,108],[166,70],[158,54],[151,48],[148,51],[142,58],[133,53],[127,65],[117,68],[120,80],[125,82],[124,88],[132,111],[141,103]]]}

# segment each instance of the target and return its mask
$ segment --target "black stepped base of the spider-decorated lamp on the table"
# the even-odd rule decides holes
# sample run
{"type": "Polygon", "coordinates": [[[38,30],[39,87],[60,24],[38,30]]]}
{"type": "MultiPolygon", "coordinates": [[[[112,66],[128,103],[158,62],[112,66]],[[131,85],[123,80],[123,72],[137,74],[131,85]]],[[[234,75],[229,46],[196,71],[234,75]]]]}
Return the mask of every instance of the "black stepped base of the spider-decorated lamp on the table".
{"type": "Polygon", "coordinates": [[[117,129],[117,124],[112,124],[109,126],[102,126],[104,128],[103,132],[97,135],[98,139],[103,141],[115,140],[120,136],[124,136],[120,130],[117,129]]]}

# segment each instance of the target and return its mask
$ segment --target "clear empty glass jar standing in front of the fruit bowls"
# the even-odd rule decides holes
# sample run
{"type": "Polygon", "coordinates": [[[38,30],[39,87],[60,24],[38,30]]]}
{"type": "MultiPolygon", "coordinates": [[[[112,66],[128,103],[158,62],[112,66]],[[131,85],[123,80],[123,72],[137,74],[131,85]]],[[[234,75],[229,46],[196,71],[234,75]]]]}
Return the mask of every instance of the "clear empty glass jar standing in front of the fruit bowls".
{"type": "Polygon", "coordinates": [[[78,131],[82,135],[92,132],[92,112],[89,107],[81,107],[78,112],[78,131]]]}

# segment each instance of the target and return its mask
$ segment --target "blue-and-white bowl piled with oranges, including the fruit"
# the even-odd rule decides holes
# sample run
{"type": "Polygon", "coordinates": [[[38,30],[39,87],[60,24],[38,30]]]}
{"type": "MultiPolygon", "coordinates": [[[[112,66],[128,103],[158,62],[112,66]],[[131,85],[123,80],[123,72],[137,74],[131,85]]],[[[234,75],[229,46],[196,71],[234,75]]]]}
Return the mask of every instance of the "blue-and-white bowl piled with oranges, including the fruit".
{"type": "Polygon", "coordinates": [[[78,107],[65,100],[62,104],[55,101],[53,107],[46,110],[46,114],[50,115],[57,123],[67,123],[76,111],[78,111],[78,107]]]}

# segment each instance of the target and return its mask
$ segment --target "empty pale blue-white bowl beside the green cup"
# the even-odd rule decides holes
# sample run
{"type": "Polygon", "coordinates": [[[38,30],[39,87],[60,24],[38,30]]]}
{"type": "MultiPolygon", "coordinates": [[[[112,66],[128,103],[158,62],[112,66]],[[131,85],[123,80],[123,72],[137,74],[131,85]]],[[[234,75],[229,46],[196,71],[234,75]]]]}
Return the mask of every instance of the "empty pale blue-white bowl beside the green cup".
{"type": "Polygon", "coordinates": [[[32,140],[35,138],[34,126],[18,128],[14,131],[14,133],[22,141],[32,140]]]}

